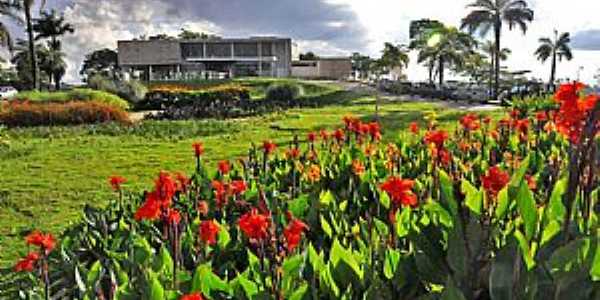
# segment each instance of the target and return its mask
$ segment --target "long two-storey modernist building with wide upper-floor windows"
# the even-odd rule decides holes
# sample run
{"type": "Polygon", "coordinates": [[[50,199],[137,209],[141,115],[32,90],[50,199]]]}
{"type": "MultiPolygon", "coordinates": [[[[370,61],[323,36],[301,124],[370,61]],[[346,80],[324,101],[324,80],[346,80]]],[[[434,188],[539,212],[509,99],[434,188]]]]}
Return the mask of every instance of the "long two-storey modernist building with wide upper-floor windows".
{"type": "Polygon", "coordinates": [[[119,41],[119,66],[149,81],[240,76],[289,77],[289,38],[119,41]]]}

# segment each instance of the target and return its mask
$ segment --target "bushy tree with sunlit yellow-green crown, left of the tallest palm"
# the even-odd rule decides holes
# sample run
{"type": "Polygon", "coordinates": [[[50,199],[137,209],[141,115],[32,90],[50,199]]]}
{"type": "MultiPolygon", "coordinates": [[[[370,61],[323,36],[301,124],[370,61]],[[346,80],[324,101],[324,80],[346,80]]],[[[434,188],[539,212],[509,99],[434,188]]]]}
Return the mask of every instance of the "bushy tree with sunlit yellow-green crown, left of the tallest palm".
{"type": "Polygon", "coordinates": [[[421,39],[417,42],[420,47],[418,61],[427,63],[430,81],[435,70],[439,88],[444,84],[446,67],[460,69],[465,57],[471,55],[477,45],[471,35],[459,31],[456,27],[433,28],[423,34],[421,39]]]}

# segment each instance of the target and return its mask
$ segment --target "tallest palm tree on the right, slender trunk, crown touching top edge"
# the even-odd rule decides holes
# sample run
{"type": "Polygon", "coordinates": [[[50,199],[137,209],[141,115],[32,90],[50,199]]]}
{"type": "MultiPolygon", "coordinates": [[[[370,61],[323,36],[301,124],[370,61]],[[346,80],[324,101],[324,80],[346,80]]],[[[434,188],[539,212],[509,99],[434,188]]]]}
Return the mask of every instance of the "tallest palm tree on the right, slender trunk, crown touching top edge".
{"type": "Polygon", "coordinates": [[[525,0],[475,0],[467,7],[471,12],[462,20],[461,29],[467,28],[471,33],[479,31],[482,36],[494,30],[495,74],[494,98],[500,90],[500,38],[502,24],[507,23],[509,30],[518,26],[523,34],[527,32],[527,23],[533,21],[533,10],[525,0]]]}

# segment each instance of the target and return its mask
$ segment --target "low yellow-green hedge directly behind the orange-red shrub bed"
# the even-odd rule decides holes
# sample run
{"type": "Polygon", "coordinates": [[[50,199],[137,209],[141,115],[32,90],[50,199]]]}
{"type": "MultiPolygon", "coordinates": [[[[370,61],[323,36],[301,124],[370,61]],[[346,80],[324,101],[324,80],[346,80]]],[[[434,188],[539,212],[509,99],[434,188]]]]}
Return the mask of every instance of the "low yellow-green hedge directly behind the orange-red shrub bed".
{"type": "Polygon", "coordinates": [[[31,102],[94,101],[105,103],[123,110],[129,108],[129,104],[127,101],[123,100],[123,98],[111,93],[92,89],[73,89],[61,92],[25,91],[18,93],[13,97],[13,100],[31,102]]]}

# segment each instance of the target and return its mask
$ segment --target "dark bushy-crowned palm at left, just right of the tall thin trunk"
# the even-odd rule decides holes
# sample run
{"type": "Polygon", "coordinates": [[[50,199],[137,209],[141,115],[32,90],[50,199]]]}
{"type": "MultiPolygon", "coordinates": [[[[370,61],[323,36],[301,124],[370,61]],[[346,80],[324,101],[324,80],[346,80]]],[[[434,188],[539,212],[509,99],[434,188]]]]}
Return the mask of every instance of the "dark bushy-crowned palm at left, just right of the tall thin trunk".
{"type": "MultiPolygon", "coordinates": [[[[38,33],[36,40],[50,39],[48,41],[48,59],[44,62],[46,71],[51,81],[54,80],[55,89],[60,90],[60,82],[66,72],[66,63],[64,53],[62,53],[62,44],[60,36],[75,32],[72,24],[66,23],[63,15],[59,15],[55,10],[51,12],[42,12],[41,18],[33,24],[33,30],[38,33]],[[54,61],[56,60],[56,61],[54,61]]],[[[42,69],[42,68],[40,68],[42,69]]]]}

